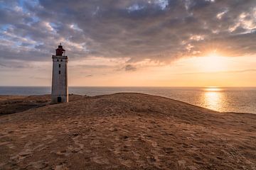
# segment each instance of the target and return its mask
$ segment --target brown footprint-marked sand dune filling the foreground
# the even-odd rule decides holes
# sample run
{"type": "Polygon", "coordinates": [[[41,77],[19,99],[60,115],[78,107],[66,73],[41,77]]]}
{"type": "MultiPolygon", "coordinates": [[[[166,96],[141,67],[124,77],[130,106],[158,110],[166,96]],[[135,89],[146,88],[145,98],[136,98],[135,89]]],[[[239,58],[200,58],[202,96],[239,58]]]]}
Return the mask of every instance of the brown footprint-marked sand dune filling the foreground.
{"type": "Polygon", "coordinates": [[[256,169],[256,115],[159,96],[76,96],[0,129],[0,169],[256,169]]]}

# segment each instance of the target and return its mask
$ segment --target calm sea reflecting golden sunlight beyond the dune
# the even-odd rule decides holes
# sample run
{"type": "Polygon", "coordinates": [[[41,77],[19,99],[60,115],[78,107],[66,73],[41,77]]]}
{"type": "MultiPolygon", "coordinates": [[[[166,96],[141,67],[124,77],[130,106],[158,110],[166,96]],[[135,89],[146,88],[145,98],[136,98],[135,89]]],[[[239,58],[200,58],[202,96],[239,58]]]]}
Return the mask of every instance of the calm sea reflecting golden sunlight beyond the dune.
{"type": "MultiPolygon", "coordinates": [[[[50,91],[50,86],[0,86],[0,95],[31,96],[50,94],[50,91]]],[[[120,92],[164,96],[220,112],[256,114],[256,87],[69,87],[69,94],[87,96],[120,92]]]]}

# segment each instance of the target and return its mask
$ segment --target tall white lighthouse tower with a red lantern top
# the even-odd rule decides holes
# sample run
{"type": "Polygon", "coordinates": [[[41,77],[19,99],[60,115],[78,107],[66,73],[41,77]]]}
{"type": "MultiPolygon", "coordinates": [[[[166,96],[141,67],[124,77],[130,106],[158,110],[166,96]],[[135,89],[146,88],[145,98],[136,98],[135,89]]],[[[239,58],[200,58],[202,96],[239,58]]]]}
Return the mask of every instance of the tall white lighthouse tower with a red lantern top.
{"type": "Polygon", "coordinates": [[[60,45],[53,55],[52,103],[68,102],[68,56],[60,45]]]}

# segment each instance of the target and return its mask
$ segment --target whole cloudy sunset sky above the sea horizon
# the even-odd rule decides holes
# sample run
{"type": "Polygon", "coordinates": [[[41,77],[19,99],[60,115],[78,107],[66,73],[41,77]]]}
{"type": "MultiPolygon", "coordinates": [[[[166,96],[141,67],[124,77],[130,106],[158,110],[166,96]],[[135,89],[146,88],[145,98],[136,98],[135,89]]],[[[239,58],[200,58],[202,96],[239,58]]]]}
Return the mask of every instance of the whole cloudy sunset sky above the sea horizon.
{"type": "Polygon", "coordinates": [[[0,0],[0,86],[256,86],[255,0],[0,0]]]}

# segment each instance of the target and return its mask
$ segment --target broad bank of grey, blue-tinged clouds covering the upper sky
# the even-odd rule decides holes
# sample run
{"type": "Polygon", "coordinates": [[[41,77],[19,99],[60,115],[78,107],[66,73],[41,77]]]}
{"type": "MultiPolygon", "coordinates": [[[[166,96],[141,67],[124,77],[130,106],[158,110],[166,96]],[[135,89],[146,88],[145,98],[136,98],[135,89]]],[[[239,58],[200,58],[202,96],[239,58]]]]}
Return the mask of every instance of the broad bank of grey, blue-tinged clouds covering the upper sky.
{"type": "Polygon", "coordinates": [[[49,60],[59,42],[73,60],[92,55],[170,62],[209,50],[256,53],[255,0],[18,2],[0,1],[4,60],[49,60]]]}

